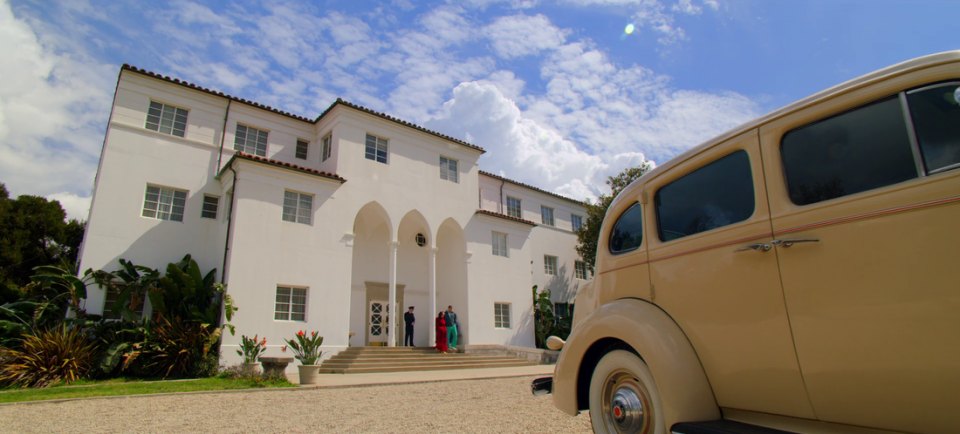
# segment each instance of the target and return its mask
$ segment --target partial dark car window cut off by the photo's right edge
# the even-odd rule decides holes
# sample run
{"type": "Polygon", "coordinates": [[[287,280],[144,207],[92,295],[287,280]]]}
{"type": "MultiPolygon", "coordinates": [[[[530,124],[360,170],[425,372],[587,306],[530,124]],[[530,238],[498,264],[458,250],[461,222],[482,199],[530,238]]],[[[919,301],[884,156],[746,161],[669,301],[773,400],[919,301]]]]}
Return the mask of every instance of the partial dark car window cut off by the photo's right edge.
{"type": "Polygon", "coordinates": [[[960,167],[960,82],[907,92],[907,102],[927,173],[960,167]]]}

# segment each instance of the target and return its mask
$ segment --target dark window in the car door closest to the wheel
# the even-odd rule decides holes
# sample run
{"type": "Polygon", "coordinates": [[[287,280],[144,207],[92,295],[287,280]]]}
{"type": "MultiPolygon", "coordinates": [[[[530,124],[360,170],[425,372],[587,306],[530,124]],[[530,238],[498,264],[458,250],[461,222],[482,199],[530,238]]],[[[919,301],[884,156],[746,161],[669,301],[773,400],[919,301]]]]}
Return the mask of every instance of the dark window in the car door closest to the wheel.
{"type": "Polygon", "coordinates": [[[654,198],[662,241],[750,218],[755,207],[746,151],[736,151],[661,187],[654,198]]]}

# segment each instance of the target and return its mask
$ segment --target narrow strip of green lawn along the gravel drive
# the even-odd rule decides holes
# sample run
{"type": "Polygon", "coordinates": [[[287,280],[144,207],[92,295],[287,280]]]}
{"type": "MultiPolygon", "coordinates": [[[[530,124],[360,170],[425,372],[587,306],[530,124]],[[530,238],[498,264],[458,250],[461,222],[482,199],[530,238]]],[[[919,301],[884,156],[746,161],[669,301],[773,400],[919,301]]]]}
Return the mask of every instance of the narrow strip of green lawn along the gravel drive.
{"type": "Polygon", "coordinates": [[[42,389],[0,389],[0,403],[43,401],[47,399],[91,398],[96,396],[147,395],[152,393],[195,392],[205,390],[296,387],[286,381],[245,378],[200,378],[196,380],[139,381],[113,379],[84,381],[69,386],[42,389]]]}

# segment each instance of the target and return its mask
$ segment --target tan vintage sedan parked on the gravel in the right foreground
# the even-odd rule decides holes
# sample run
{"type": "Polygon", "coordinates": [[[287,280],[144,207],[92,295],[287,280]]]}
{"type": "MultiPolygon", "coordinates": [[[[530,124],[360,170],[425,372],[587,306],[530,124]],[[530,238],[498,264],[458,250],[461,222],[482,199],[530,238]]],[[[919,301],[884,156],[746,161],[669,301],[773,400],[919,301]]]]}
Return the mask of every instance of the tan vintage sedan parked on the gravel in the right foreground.
{"type": "Polygon", "coordinates": [[[597,250],[552,339],[594,431],[960,432],[960,51],[656,168],[597,250]]]}

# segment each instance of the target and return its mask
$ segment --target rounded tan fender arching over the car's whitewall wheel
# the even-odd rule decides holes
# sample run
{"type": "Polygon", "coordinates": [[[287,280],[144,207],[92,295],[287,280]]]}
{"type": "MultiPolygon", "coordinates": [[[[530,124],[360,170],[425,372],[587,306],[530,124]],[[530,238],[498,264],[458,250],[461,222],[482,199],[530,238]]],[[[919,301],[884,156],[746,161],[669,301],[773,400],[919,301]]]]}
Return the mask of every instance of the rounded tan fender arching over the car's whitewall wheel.
{"type": "Polygon", "coordinates": [[[597,361],[610,349],[624,347],[650,368],[668,428],[677,422],[720,419],[713,390],[687,336],[663,310],[638,299],[604,304],[577,324],[557,360],[554,405],[571,415],[586,408],[582,389],[589,388],[597,361]]]}

